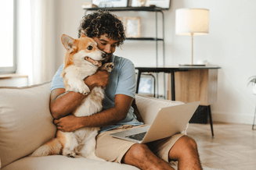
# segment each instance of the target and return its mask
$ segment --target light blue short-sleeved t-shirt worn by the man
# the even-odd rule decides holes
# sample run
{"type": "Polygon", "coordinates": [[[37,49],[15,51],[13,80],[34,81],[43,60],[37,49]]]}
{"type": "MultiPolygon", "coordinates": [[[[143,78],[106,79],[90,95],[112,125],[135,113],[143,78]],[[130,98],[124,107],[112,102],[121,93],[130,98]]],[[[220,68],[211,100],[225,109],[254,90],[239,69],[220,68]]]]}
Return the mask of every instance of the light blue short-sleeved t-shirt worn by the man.
{"type": "MultiPolygon", "coordinates": [[[[114,97],[116,94],[125,94],[134,98],[136,90],[135,68],[133,63],[127,58],[121,58],[115,55],[112,55],[109,58],[109,62],[114,62],[114,69],[110,73],[110,83],[105,89],[103,110],[114,107],[114,97]]],[[[65,88],[63,84],[63,77],[60,77],[62,70],[63,65],[59,67],[55,76],[53,76],[51,90],[56,88],[65,88]]],[[[137,120],[133,111],[134,109],[131,107],[126,119],[112,126],[101,127],[100,132],[114,129],[125,124],[133,126],[142,125],[142,122],[137,120]]]]}

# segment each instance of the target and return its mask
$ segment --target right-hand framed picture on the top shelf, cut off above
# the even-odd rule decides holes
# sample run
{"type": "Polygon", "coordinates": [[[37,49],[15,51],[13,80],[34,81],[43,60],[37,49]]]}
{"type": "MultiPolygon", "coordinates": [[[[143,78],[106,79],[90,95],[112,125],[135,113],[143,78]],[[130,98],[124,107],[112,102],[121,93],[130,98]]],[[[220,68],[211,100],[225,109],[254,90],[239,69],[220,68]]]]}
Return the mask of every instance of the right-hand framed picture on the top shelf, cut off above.
{"type": "Polygon", "coordinates": [[[163,9],[170,9],[171,0],[129,0],[133,7],[138,6],[157,6],[163,9]]]}

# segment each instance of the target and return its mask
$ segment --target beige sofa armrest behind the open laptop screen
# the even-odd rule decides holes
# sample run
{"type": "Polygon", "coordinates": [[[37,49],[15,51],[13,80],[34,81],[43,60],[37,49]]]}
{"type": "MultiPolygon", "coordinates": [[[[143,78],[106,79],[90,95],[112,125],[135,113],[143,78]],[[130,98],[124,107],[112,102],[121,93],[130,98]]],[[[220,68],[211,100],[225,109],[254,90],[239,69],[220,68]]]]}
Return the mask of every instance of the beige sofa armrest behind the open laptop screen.
{"type": "MultiPolygon", "coordinates": [[[[152,124],[153,119],[155,119],[155,117],[157,116],[160,108],[184,104],[181,101],[163,100],[155,97],[143,96],[141,94],[135,95],[135,101],[139,109],[139,114],[142,116],[144,123],[149,125],[152,124]]],[[[186,129],[187,128],[188,125],[186,129]]],[[[184,129],[182,133],[186,134],[186,129],[184,129]]]]}

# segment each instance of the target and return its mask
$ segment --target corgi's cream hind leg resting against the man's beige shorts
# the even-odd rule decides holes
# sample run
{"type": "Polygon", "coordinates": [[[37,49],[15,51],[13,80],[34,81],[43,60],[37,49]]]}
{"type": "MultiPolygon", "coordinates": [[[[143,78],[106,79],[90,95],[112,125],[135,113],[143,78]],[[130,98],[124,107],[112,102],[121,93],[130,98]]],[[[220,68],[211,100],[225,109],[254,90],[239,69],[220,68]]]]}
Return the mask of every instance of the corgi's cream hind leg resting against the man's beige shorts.
{"type": "Polygon", "coordinates": [[[85,144],[81,150],[79,151],[79,154],[82,157],[94,159],[97,161],[105,161],[102,158],[99,158],[96,156],[96,135],[98,134],[98,129],[92,131],[90,134],[86,134],[85,140],[82,141],[83,144],[85,144]]]}

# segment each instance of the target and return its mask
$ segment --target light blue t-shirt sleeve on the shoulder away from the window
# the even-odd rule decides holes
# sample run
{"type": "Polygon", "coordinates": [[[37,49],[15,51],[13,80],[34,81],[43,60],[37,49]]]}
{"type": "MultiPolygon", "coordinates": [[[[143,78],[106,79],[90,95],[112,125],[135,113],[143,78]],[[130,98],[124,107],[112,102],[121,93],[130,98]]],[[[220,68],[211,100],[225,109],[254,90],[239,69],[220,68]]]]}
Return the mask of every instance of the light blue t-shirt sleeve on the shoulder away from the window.
{"type": "Polygon", "coordinates": [[[121,70],[118,77],[118,86],[117,86],[116,94],[125,94],[134,98],[135,91],[136,91],[135,67],[130,60],[126,59],[121,64],[121,70]]]}

